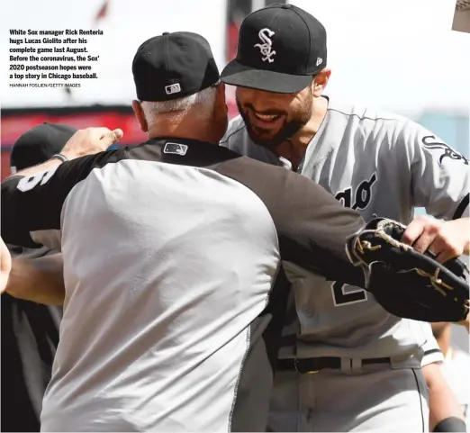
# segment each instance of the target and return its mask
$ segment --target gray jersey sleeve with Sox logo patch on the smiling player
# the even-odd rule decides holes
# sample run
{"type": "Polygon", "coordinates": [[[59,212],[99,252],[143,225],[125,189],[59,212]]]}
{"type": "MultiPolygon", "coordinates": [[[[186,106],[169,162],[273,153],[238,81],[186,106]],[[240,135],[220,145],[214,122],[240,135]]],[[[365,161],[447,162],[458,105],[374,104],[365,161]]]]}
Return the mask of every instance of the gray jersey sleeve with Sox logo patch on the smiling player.
{"type": "Polygon", "coordinates": [[[447,221],[468,217],[468,158],[411,121],[405,123],[397,144],[398,152],[405,150],[402,165],[411,169],[411,205],[447,221]]]}

